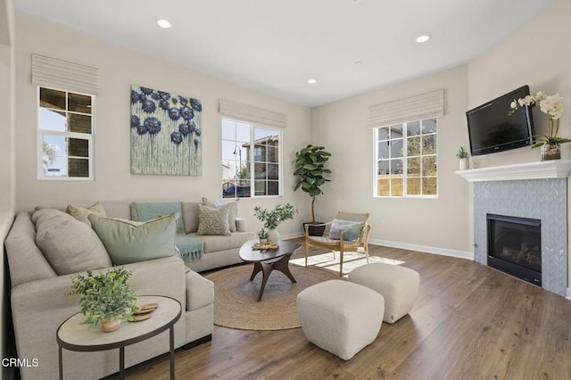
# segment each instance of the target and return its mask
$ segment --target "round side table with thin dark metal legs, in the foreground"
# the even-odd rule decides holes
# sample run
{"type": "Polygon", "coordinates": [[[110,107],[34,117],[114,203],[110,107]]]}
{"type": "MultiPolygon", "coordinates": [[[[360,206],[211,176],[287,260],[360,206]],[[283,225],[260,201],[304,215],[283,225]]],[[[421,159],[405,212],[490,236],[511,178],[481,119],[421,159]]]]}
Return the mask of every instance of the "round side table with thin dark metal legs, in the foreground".
{"type": "Polygon", "coordinates": [[[59,346],[60,379],[63,378],[62,348],[70,351],[106,351],[119,349],[120,378],[125,378],[125,346],[138,343],[165,330],[170,333],[170,378],[175,378],[175,339],[174,325],[180,318],[180,302],[161,295],[141,295],[137,305],[156,302],[159,306],[151,318],[140,322],[123,321],[119,330],[103,333],[99,326],[89,327],[83,324],[86,317],[75,314],[66,319],[57,329],[59,346]]]}

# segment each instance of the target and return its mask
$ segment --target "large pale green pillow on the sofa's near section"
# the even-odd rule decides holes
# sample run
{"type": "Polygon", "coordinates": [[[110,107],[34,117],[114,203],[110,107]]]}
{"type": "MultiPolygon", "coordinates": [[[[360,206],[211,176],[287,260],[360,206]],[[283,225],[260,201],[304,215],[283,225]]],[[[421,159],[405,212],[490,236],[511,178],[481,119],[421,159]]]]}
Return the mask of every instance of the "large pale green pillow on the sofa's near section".
{"type": "Polygon", "coordinates": [[[175,234],[177,212],[147,222],[101,218],[89,215],[91,226],[99,235],[114,265],[160,259],[177,253],[175,234]]]}

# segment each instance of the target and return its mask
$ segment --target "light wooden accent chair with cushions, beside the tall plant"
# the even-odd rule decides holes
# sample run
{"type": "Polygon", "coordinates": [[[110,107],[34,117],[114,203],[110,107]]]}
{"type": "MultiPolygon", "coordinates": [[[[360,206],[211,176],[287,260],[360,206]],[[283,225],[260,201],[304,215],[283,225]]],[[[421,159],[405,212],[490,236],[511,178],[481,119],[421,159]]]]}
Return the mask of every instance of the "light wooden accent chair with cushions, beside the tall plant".
{"type": "Polygon", "coordinates": [[[305,266],[310,247],[326,248],[340,252],[339,277],[343,276],[343,252],[357,252],[363,247],[368,263],[368,213],[338,211],[334,220],[313,226],[326,226],[323,236],[310,236],[310,225],[305,226],[305,266]]]}

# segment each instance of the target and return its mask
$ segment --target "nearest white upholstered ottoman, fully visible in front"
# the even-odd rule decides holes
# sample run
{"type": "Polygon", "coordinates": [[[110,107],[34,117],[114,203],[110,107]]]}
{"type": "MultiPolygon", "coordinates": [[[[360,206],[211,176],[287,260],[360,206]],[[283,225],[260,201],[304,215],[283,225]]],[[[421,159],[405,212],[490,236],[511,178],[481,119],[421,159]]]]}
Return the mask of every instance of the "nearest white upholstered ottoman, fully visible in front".
{"type": "Polygon", "coordinates": [[[305,336],[343,360],[377,338],[384,310],[381,294],[343,280],[312,285],[297,294],[297,316],[305,336]]]}

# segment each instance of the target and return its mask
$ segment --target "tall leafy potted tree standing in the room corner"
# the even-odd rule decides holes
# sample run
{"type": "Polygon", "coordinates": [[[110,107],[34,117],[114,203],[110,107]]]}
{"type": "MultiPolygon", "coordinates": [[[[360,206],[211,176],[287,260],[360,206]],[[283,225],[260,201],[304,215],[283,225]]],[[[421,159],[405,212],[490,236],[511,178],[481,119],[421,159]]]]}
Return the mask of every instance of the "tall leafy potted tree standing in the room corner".
{"type": "Polygon", "coordinates": [[[322,223],[315,220],[315,197],[323,194],[321,186],[329,179],[326,177],[331,174],[331,170],[325,168],[331,153],[328,153],[323,146],[307,145],[299,152],[295,153],[295,170],[294,176],[298,176],[295,183],[294,191],[302,189],[311,197],[311,221],[303,223],[303,230],[305,225],[309,224],[310,235],[323,235],[325,226],[312,226],[322,223]]]}

